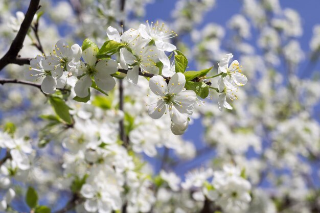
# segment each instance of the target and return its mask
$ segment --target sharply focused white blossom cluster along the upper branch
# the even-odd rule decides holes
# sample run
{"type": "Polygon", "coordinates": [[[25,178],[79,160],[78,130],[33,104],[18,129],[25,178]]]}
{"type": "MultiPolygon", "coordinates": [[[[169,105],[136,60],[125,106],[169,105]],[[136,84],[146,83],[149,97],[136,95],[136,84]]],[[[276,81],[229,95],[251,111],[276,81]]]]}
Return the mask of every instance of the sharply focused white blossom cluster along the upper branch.
{"type": "MultiPolygon", "coordinates": [[[[153,102],[148,105],[149,115],[153,119],[159,119],[163,114],[169,113],[171,131],[176,135],[183,134],[188,128],[197,95],[201,95],[196,93],[196,87],[186,89],[186,65],[180,61],[176,62],[180,64],[176,64],[175,60],[170,62],[172,55],[169,58],[166,54],[173,54],[174,51],[175,59],[176,56],[181,56],[183,60],[187,60],[182,53],[176,52],[176,46],[170,43],[170,39],[177,34],[168,30],[164,23],[160,25],[158,21],[147,21],[147,25],[141,24],[139,29],[131,28],[121,34],[110,26],[106,34],[109,40],[100,49],[89,40],[85,40],[82,47],[78,44],[70,46],[65,40],[59,40],[49,56],[37,56],[31,60],[29,72],[25,73],[26,78],[42,80],[41,89],[44,93],[54,93],[56,89],[63,88],[68,79],[73,78],[76,81],[74,92],[83,99],[90,97],[90,87],[103,92],[112,90],[116,85],[113,76],[120,69],[126,70],[127,80],[135,85],[138,84],[140,74],[152,74],[149,87],[155,97],[150,96],[153,97],[153,102]],[[83,61],[80,60],[81,57],[83,61]],[[185,67],[180,68],[181,64],[185,67]],[[179,67],[178,70],[176,66],[179,67]]],[[[247,82],[238,61],[233,61],[228,67],[232,57],[232,54],[227,54],[219,63],[220,110],[222,106],[232,109],[226,100],[237,99],[237,87],[247,82]]],[[[194,81],[208,72],[196,73],[189,81],[194,81]]],[[[208,89],[209,84],[204,84],[204,87],[208,89]]]]}

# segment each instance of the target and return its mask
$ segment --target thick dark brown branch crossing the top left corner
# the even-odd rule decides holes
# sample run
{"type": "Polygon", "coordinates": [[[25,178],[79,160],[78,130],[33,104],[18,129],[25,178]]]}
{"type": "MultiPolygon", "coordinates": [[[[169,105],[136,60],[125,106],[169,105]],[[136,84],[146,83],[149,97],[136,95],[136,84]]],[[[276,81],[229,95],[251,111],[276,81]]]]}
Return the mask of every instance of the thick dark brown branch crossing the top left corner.
{"type": "Polygon", "coordinates": [[[17,59],[17,55],[22,48],[22,45],[25,41],[26,35],[28,33],[29,27],[31,26],[31,22],[33,16],[36,14],[39,8],[40,0],[31,0],[28,11],[26,13],[24,21],[22,21],[20,29],[11,43],[10,49],[8,52],[0,59],[0,71],[7,66],[8,64],[12,63],[17,59]]]}

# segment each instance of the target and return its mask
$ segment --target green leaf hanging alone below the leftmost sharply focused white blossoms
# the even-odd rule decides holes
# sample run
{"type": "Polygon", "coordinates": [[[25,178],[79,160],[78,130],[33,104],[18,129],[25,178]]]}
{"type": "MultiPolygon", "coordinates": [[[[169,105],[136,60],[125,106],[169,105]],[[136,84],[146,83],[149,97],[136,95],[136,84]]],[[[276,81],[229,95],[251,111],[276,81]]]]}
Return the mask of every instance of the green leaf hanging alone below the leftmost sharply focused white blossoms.
{"type": "Polygon", "coordinates": [[[68,107],[65,102],[58,97],[51,96],[49,98],[49,101],[60,119],[62,119],[67,124],[72,124],[72,118],[69,113],[70,107],[68,107]]]}

